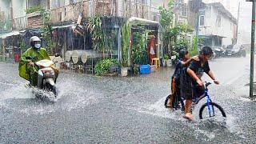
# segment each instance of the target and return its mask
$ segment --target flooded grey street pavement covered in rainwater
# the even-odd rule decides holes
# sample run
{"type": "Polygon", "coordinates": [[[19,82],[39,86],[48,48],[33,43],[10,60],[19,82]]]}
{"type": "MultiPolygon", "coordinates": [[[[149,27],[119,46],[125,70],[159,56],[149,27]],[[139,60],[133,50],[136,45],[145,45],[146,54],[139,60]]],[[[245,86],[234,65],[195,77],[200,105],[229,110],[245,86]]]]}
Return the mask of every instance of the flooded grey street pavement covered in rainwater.
{"type": "MultiPolygon", "coordinates": [[[[137,77],[96,77],[62,71],[59,98],[42,102],[18,76],[18,65],[0,62],[1,143],[252,143],[256,103],[248,98],[250,58],[210,62],[221,86],[210,95],[225,119],[182,118],[163,106],[173,70],[137,77]]],[[[206,76],[206,75],[205,75],[206,76]]],[[[207,80],[207,78],[204,78],[207,80]]]]}

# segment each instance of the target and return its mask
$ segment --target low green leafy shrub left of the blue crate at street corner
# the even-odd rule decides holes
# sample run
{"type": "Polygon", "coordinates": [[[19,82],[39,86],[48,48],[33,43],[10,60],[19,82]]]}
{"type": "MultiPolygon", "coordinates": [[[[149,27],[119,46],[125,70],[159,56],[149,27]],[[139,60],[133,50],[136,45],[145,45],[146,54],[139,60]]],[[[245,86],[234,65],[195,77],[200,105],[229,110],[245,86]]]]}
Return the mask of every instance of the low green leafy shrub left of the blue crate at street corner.
{"type": "Polygon", "coordinates": [[[94,67],[94,71],[96,75],[101,74],[109,74],[111,66],[119,66],[118,59],[103,59],[97,62],[96,66],[94,67]]]}

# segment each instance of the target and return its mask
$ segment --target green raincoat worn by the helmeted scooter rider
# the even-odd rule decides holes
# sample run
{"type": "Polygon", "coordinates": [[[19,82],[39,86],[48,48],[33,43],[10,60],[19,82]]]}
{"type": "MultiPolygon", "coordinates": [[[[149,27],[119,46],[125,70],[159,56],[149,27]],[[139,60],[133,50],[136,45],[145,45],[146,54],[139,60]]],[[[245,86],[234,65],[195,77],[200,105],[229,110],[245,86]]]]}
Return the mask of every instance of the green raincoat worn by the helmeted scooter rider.
{"type": "Polygon", "coordinates": [[[38,85],[38,66],[30,66],[28,62],[31,60],[26,59],[26,57],[31,57],[32,62],[38,62],[42,59],[49,59],[46,49],[40,48],[36,50],[34,48],[29,48],[25,53],[22,54],[21,60],[18,65],[19,76],[30,81],[32,86],[38,85]]]}

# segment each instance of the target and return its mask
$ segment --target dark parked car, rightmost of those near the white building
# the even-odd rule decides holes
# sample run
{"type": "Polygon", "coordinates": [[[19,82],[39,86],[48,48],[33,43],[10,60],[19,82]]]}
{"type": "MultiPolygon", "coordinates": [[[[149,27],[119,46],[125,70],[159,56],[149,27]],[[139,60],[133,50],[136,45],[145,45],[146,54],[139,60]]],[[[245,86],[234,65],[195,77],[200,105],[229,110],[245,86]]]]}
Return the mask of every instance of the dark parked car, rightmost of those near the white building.
{"type": "Polygon", "coordinates": [[[246,49],[244,48],[244,46],[241,45],[229,45],[226,46],[225,55],[246,57],[246,49]]]}

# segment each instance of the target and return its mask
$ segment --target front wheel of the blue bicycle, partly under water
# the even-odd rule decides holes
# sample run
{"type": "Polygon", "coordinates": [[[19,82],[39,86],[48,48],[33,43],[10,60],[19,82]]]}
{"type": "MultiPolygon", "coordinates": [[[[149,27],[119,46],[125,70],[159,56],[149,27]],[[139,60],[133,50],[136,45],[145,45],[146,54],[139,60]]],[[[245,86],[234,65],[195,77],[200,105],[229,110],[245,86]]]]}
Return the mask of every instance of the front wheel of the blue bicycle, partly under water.
{"type": "Polygon", "coordinates": [[[199,118],[202,119],[210,117],[226,117],[226,113],[222,109],[222,106],[219,106],[214,102],[210,102],[209,106],[205,103],[199,110],[199,118]]]}

